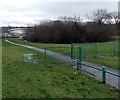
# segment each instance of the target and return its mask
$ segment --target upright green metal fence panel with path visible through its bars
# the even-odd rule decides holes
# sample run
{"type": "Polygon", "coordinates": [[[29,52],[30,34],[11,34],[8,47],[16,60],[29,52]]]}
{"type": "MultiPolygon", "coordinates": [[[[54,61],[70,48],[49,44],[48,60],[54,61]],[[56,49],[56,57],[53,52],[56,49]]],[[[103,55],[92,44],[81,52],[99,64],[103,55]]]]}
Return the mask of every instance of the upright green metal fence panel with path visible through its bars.
{"type": "Polygon", "coordinates": [[[77,68],[77,60],[82,60],[81,47],[46,47],[45,48],[45,66],[71,65],[77,68]],[[74,59],[71,59],[71,53],[74,59]]]}

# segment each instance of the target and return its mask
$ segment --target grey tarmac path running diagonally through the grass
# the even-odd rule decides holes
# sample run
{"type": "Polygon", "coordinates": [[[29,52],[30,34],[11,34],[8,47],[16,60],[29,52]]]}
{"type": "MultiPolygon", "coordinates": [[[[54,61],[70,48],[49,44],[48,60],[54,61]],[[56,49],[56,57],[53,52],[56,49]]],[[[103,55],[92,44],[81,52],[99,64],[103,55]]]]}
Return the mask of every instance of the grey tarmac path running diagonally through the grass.
{"type": "MultiPolygon", "coordinates": [[[[37,48],[37,47],[28,46],[28,45],[17,44],[17,43],[11,42],[9,40],[5,40],[5,41],[10,43],[10,44],[13,44],[13,45],[22,46],[22,47],[26,47],[26,48],[29,48],[29,49],[39,51],[41,53],[45,53],[44,49],[40,49],[40,48],[37,48]]],[[[60,53],[52,52],[52,51],[49,51],[49,50],[47,50],[47,51],[48,51],[47,55],[55,57],[56,59],[59,59],[61,61],[70,62],[72,64],[75,64],[77,62],[76,60],[71,59],[70,57],[62,55],[60,53]]],[[[103,67],[102,65],[92,63],[92,62],[87,62],[87,61],[82,61],[82,62],[85,63],[85,64],[88,64],[88,65],[99,67],[99,68],[103,67]]],[[[110,72],[120,74],[120,70],[116,70],[116,69],[108,68],[108,67],[105,67],[105,68],[106,68],[106,70],[108,70],[110,72]]],[[[102,71],[99,71],[99,70],[96,70],[96,69],[93,69],[93,68],[89,68],[89,67],[84,66],[84,65],[82,65],[80,70],[84,71],[86,74],[91,75],[92,77],[95,77],[98,80],[102,80],[102,71]]],[[[120,77],[117,77],[117,76],[106,73],[106,83],[108,83],[108,84],[110,84],[110,85],[112,85],[116,88],[120,88],[120,77]]]]}

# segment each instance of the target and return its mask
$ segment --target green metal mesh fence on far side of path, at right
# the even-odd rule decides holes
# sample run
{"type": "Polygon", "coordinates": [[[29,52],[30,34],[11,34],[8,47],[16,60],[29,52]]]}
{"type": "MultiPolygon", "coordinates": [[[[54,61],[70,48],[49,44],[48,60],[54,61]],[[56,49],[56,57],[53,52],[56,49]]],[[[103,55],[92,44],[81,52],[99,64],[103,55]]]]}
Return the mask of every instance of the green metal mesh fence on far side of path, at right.
{"type": "MultiPolygon", "coordinates": [[[[98,55],[115,55],[118,53],[118,42],[71,44],[71,48],[78,46],[82,47],[83,57],[96,57],[98,55]]],[[[73,55],[71,55],[71,58],[73,58],[73,55]]]]}

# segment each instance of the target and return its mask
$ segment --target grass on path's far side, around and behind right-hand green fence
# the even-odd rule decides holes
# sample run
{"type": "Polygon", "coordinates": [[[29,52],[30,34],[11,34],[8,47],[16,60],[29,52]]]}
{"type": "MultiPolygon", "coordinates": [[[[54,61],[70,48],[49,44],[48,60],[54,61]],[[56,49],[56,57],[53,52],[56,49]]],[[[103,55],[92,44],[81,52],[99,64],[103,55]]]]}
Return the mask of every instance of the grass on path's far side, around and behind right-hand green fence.
{"type": "MultiPolygon", "coordinates": [[[[86,44],[83,45],[82,51],[83,51],[83,55],[90,55],[93,57],[86,57],[83,58],[86,61],[89,62],[94,62],[97,64],[101,64],[107,67],[111,67],[114,69],[120,69],[120,66],[118,66],[118,43],[120,43],[120,40],[115,42],[115,51],[116,51],[116,55],[97,55],[97,57],[94,57],[96,51],[95,48],[92,47],[92,45],[95,44],[86,44]]],[[[78,44],[80,46],[80,44],[78,44]]],[[[78,46],[77,45],[77,46],[78,46]]],[[[104,54],[104,53],[112,53],[112,43],[100,43],[98,44],[98,53],[100,54],[104,54]],[[108,49],[111,50],[108,52],[108,49]]]]}

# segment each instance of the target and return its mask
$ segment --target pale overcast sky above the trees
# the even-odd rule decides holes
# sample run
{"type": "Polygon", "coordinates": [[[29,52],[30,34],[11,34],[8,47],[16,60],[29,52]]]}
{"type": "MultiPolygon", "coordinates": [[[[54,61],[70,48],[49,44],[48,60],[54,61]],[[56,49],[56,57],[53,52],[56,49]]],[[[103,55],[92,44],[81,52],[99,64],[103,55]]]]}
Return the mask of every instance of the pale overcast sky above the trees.
{"type": "Polygon", "coordinates": [[[0,27],[32,25],[59,16],[86,19],[95,9],[118,10],[119,0],[0,0],[0,27]],[[49,2],[48,2],[49,1],[49,2]]]}

